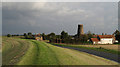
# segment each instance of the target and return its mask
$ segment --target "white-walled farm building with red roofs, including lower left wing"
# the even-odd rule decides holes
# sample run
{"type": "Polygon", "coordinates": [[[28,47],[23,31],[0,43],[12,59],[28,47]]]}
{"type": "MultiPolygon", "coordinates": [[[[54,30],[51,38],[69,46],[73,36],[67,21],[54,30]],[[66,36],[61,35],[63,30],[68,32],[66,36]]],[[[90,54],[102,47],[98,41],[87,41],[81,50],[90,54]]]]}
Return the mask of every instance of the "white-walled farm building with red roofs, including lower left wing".
{"type": "Polygon", "coordinates": [[[115,40],[114,35],[97,35],[96,38],[91,38],[93,44],[113,44],[115,40]]]}

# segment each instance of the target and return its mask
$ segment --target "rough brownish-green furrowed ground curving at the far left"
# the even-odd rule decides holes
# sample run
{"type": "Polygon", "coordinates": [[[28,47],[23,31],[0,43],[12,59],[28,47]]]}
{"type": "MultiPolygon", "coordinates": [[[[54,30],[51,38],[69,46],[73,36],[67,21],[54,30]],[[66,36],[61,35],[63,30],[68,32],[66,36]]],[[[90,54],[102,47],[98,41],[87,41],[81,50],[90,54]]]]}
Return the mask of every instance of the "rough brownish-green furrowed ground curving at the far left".
{"type": "Polygon", "coordinates": [[[4,37],[2,40],[2,64],[13,65],[19,62],[20,58],[29,48],[29,42],[18,38],[4,37]]]}

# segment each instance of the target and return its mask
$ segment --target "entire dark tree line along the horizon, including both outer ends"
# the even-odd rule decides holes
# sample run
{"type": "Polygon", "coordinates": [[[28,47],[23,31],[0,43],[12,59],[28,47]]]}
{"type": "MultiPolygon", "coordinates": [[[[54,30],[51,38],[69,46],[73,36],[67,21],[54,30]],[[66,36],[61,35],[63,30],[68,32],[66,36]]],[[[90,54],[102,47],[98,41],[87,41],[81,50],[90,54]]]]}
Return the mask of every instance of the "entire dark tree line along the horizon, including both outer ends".
{"type": "MultiPolygon", "coordinates": [[[[67,32],[62,31],[60,35],[56,35],[54,32],[50,33],[50,34],[45,34],[42,33],[41,36],[43,37],[43,40],[49,40],[50,42],[56,42],[56,40],[59,40],[61,43],[70,43],[70,44],[90,44],[90,42],[88,41],[90,38],[94,38],[94,33],[91,33],[90,31],[88,31],[86,34],[84,35],[80,35],[79,37],[76,35],[69,35],[67,32]]],[[[107,35],[107,34],[103,34],[102,35],[107,35]]],[[[115,36],[116,40],[119,41],[120,43],[120,31],[116,30],[113,35],[115,36]]],[[[7,37],[12,37],[12,36],[24,36],[25,39],[34,39],[35,34],[32,34],[31,32],[28,33],[24,33],[23,35],[11,35],[11,34],[7,34],[7,37]]]]}

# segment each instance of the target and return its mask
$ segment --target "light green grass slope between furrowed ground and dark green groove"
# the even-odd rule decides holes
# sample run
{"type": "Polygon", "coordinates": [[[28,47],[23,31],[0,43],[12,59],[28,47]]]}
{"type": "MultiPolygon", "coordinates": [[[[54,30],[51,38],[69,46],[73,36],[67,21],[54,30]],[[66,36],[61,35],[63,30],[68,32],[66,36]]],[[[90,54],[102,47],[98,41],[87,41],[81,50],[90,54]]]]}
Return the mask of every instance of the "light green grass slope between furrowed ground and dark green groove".
{"type": "Polygon", "coordinates": [[[21,58],[17,65],[34,65],[37,57],[37,47],[34,43],[30,42],[30,47],[27,53],[21,58]]]}

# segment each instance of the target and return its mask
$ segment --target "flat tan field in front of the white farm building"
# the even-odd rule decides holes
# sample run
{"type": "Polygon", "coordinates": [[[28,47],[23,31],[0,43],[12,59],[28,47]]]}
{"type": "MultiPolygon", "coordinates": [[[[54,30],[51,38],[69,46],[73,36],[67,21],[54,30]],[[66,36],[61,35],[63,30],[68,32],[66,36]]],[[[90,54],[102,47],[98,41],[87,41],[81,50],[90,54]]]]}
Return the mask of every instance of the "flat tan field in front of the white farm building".
{"type": "Polygon", "coordinates": [[[102,48],[105,48],[105,49],[112,49],[112,50],[120,51],[120,49],[119,49],[120,47],[118,48],[119,45],[79,45],[79,46],[95,47],[95,48],[102,47],[102,48]]]}

